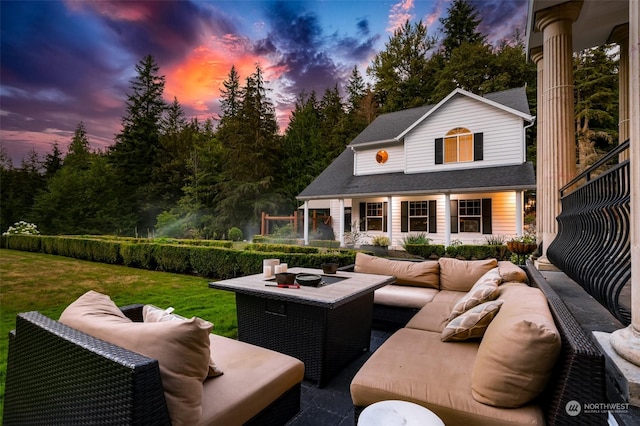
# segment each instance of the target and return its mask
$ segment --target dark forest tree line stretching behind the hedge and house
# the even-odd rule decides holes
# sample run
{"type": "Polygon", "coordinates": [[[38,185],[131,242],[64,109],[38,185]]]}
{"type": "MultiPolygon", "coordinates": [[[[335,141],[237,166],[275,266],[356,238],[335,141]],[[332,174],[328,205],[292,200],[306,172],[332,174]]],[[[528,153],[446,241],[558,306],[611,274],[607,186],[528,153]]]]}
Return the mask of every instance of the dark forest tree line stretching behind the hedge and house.
{"type": "MultiPolygon", "coordinates": [[[[165,77],[146,56],[105,151],[90,149],[82,122],[66,153],[54,144],[14,167],[0,151],[0,229],[27,220],[46,234],[220,238],[238,227],[250,237],[261,212],[294,211],[296,195],[381,113],[435,104],[456,87],[483,95],[526,85],[535,115],[536,71],[519,34],[492,46],[468,0],[455,0],[440,23],[441,41],[421,21],[397,29],[366,70],[371,84],[354,67],[344,95],[338,83],[300,93],[284,134],[259,65],[244,81],[232,67],[220,117],[201,121],[164,100],[165,77]]],[[[575,63],[577,146],[606,150],[617,135],[615,55],[598,48],[575,63]]]]}

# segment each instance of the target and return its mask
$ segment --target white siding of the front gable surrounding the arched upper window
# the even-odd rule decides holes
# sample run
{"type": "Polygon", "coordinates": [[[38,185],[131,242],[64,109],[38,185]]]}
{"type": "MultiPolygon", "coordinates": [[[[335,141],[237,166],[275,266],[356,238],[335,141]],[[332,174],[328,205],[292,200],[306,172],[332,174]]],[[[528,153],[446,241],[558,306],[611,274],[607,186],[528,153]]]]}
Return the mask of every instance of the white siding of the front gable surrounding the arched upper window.
{"type": "Polygon", "coordinates": [[[521,164],[525,161],[523,134],[520,117],[478,100],[458,96],[405,136],[406,173],[521,164]],[[435,164],[435,140],[456,127],[484,134],[482,161],[435,164]]]}

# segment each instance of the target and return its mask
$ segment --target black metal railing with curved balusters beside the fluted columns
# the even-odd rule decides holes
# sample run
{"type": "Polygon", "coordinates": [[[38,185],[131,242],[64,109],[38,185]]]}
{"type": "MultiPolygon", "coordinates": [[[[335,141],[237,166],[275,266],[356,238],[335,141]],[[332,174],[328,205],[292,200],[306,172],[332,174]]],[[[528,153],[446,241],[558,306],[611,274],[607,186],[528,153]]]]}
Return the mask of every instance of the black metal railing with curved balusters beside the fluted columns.
{"type": "Polygon", "coordinates": [[[549,260],[625,325],[631,305],[621,293],[631,286],[629,141],[620,144],[560,189],[558,235],[549,260]]]}

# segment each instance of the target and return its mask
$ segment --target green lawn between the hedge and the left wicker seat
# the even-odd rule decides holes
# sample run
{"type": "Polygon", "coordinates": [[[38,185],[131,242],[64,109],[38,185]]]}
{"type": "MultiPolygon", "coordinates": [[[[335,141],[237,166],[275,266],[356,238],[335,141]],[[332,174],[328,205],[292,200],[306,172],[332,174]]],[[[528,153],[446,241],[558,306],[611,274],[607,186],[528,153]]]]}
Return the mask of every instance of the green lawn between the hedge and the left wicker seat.
{"type": "Polygon", "coordinates": [[[207,283],[200,277],[0,249],[0,419],[8,333],[15,327],[16,314],[39,311],[58,319],[78,296],[95,290],[111,296],[118,306],[173,306],[182,316],[211,321],[216,334],[237,337],[234,294],[209,289],[207,283]]]}

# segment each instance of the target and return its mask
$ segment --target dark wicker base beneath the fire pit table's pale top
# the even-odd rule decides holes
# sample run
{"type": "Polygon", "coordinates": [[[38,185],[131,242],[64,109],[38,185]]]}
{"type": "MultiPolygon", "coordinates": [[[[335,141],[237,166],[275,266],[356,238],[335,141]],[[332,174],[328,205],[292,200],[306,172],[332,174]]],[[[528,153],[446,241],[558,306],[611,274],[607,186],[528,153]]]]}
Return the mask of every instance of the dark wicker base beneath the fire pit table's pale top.
{"type": "Polygon", "coordinates": [[[373,292],[334,309],[240,293],[236,305],[239,340],[300,359],[320,387],[369,350],[373,292]]]}

